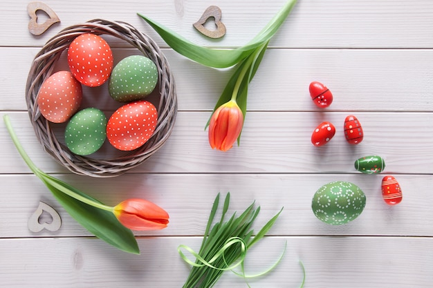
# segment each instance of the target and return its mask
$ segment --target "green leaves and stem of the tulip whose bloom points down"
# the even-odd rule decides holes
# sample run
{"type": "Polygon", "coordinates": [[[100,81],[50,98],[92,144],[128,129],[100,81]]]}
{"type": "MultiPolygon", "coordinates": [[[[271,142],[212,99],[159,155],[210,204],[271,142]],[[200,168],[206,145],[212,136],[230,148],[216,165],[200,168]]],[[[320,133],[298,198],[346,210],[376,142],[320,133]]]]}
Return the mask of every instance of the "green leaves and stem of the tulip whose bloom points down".
{"type": "MultiPolygon", "coordinates": [[[[198,46],[149,17],[140,13],[138,13],[138,15],[147,21],[147,23],[158,32],[160,37],[162,37],[173,50],[181,55],[204,66],[214,68],[235,66],[234,73],[228,81],[228,84],[225,86],[223,93],[221,93],[218,102],[216,102],[212,115],[221,105],[230,100],[236,100],[237,105],[242,111],[243,122],[245,122],[248,84],[259,68],[259,64],[261,59],[264,57],[270,39],[275,35],[284,20],[288,17],[295,6],[296,1],[297,0],[288,0],[283,8],[279,10],[279,12],[268,22],[259,34],[256,35],[256,37],[249,41],[246,46],[234,49],[206,48],[198,46]]],[[[212,118],[212,115],[210,119],[212,118]]],[[[205,125],[205,129],[208,128],[210,119],[205,125]]],[[[237,137],[238,145],[240,140],[241,133],[239,133],[239,136],[237,137]]]]}

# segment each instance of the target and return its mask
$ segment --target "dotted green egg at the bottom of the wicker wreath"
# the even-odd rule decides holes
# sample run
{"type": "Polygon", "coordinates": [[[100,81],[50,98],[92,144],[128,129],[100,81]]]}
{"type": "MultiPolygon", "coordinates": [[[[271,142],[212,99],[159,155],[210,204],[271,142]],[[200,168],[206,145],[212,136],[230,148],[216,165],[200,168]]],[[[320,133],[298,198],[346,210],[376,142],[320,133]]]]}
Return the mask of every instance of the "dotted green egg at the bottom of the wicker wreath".
{"type": "Polygon", "coordinates": [[[71,117],[66,125],[65,141],[77,155],[95,153],[107,137],[107,117],[97,108],[85,108],[71,117]]]}

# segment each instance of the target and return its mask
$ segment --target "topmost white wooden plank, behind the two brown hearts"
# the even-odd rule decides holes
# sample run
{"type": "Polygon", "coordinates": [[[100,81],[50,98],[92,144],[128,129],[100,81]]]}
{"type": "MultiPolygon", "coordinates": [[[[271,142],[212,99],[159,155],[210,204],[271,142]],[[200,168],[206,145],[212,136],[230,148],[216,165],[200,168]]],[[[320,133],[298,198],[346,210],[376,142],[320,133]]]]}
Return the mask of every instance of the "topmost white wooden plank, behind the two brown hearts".
{"type": "MultiPolygon", "coordinates": [[[[433,6],[430,0],[338,0],[298,1],[272,46],[289,48],[431,48],[433,39],[433,6]],[[338,32],[335,32],[338,31],[338,32]]],[[[42,37],[33,37],[27,30],[26,1],[3,1],[2,27],[10,27],[2,35],[2,46],[42,46],[60,28],[90,19],[111,19],[142,28],[152,38],[163,41],[136,15],[143,13],[181,35],[206,46],[236,47],[246,44],[283,6],[284,1],[260,0],[248,3],[230,0],[212,3],[194,0],[127,0],[122,2],[77,0],[62,3],[44,1],[52,8],[60,24],[42,37]],[[227,27],[223,39],[210,41],[192,27],[210,5],[222,10],[227,27]],[[10,23],[17,23],[11,25],[10,23]]],[[[43,16],[43,15],[42,15],[43,16]]]]}

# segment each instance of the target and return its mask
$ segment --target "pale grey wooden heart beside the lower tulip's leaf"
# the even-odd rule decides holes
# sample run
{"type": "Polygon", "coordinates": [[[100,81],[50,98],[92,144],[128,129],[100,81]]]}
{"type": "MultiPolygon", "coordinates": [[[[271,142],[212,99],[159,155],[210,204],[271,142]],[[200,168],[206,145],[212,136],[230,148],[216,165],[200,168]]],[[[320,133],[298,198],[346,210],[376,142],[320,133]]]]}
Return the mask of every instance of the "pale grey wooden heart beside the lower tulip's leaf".
{"type": "Polygon", "coordinates": [[[37,207],[36,211],[28,218],[27,222],[28,229],[32,232],[40,232],[43,229],[47,229],[48,231],[54,232],[60,229],[62,226],[62,219],[60,218],[59,213],[50,207],[48,204],[44,202],[39,202],[39,207],[37,207]],[[48,213],[53,219],[50,222],[39,222],[39,218],[42,216],[42,213],[48,213]]]}

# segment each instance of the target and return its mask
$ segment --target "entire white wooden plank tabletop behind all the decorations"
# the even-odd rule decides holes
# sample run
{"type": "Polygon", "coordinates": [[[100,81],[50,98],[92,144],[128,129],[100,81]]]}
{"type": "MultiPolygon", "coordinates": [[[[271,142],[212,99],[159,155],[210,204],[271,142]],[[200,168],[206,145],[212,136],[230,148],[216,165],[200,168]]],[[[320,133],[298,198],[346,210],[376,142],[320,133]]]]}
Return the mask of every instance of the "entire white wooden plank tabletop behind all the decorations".
{"type": "MultiPolygon", "coordinates": [[[[213,151],[205,123],[230,70],[196,64],[171,50],[136,13],[141,12],[203,46],[246,44],[284,0],[199,1],[46,0],[61,22],[35,37],[28,32],[29,1],[4,0],[0,18],[0,116],[8,114],[35,164],[109,204],[146,198],[166,209],[167,229],[136,233],[134,256],[94,238],[55,201],[27,168],[0,122],[0,287],[181,287],[189,267],[179,244],[198,249],[216,193],[230,191],[233,211],[252,201],[261,207],[259,229],[282,215],[247,258],[246,270],[266,269],[251,287],[432,287],[433,283],[433,2],[431,0],[300,0],[270,42],[250,84],[241,146],[213,151]],[[192,23],[205,8],[223,12],[227,34],[203,37],[192,23]],[[145,164],[125,175],[95,179],[73,175],[48,157],[36,140],[24,99],[31,61],[59,30],[90,19],[127,21],[163,47],[176,79],[178,117],[171,137],[145,164]],[[311,81],[326,84],[334,102],[314,106],[311,81]],[[344,118],[360,119],[364,141],[344,140],[344,118]],[[313,129],[332,122],[326,146],[310,142],[313,129]],[[381,155],[380,175],[363,175],[353,162],[381,155]],[[382,200],[383,175],[394,175],[403,202],[382,200]],[[335,180],[357,184],[367,195],[360,217],[343,226],[317,220],[315,191],[335,180]],[[39,201],[62,218],[56,232],[30,232],[28,218],[39,201]]],[[[42,17],[43,19],[43,17],[42,17]]],[[[115,52],[128,52],[116,46],[115,52]]],[[[225,273],[216,287],[246,287],[225,273]]]]}

